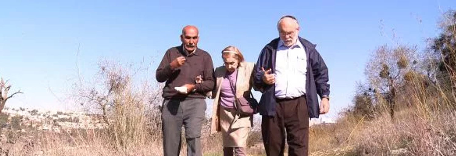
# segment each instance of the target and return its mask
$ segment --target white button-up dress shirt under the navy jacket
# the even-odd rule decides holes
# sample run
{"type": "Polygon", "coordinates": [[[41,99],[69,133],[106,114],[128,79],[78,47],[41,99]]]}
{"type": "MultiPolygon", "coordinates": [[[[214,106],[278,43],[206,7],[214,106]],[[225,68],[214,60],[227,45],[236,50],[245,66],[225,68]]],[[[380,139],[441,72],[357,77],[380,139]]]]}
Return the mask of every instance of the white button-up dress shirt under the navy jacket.
{"type": "Polygon", "coordinates": [[[290,47],[279,41],[274,72],[276,98],[293,99],[306,94],[307,57],[299,40],[290,47]]]}

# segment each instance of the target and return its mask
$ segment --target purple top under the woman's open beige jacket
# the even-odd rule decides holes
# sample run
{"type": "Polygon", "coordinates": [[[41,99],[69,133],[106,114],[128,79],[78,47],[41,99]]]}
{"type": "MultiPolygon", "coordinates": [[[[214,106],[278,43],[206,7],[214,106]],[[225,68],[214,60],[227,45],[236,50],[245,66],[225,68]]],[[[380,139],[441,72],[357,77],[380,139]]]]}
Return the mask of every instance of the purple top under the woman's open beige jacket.
{"type": "Polygon", "coordinates": [[[233,88],[236,89],[236,77],[238,75],[238,69],[233,72],[226,73],[222,81],[222,88],[220,89],[220,105],[225,108],[234,108],[234,93],[231,90],[230,82],[233,82],[233,88]],[[228,79],[229,78],[229,79],[228,79]]]}

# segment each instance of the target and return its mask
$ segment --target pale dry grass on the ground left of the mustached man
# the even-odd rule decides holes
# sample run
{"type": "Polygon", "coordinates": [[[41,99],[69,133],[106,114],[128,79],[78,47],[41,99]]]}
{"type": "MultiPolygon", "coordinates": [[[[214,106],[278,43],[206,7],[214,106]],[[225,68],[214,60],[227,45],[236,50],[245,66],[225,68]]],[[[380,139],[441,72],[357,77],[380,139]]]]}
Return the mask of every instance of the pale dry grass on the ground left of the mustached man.
{"type": "Polygon", "coordinates": [[[35,131],[16,134],[15,142],[1,143],[0,156],[162,156],[161,145],[142,145],[118,150],[105,132],[53,133],[35,131]]]}

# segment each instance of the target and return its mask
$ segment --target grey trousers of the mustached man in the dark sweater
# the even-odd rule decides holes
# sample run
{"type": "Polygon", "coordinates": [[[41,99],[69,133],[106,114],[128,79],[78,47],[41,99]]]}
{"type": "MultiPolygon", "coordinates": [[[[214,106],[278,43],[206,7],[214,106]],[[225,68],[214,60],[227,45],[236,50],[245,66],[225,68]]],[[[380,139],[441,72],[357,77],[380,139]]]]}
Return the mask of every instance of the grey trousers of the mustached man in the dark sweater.
{"type": "Polygon", "coordinates": [[[204,99],[164,100],[161,109],[164,156],[179,156],[181,129],[185,127],[187,156],[201,156],[201,126],[204,121],[204,99]]]}

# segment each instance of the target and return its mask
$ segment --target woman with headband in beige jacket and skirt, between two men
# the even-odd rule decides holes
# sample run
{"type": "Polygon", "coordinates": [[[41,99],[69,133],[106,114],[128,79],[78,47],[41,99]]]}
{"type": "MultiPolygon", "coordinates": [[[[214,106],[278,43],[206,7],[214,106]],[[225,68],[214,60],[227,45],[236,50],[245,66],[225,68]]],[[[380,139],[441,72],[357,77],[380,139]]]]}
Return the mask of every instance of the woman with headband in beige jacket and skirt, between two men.
{"type": "Polygon", "coordinates": [[[223,49],[222,58],[224,65],[214,72],[217,83],[212,91],[211,133],[222,132],[223,156],[245,156],[253,115],[238,114],[234,102],[235,95],[250,96],[254,63],[244,62],[244,56],[234,46],[223,49]]]}

